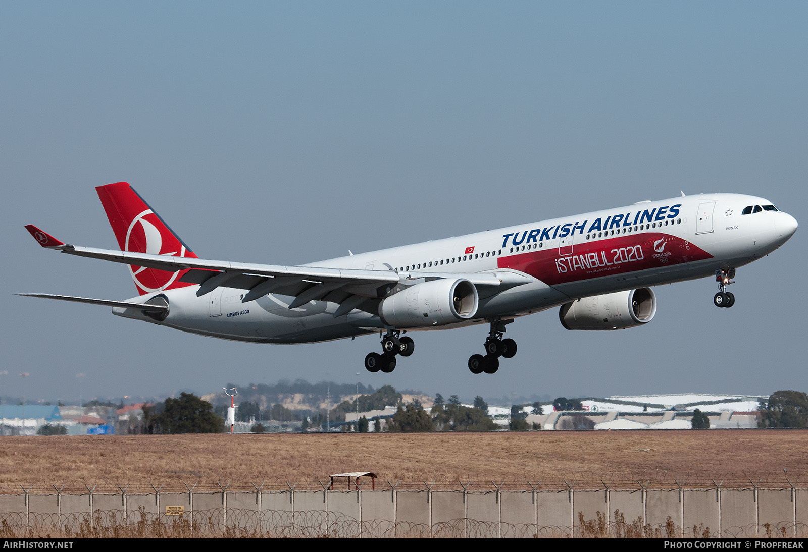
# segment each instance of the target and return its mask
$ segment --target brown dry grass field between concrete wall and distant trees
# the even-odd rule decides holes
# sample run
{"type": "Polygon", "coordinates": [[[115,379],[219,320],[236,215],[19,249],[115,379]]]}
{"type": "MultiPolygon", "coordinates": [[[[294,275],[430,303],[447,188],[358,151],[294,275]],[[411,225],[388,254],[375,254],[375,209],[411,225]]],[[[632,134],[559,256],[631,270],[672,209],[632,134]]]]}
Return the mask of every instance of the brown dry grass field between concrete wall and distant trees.
{"type": "Polygon", "coordinates": [[[304,489],[357,470],[398,488],[787,487],[808,481],[806,452],[806,430],[2,437],[0,492],[304,489]]]}

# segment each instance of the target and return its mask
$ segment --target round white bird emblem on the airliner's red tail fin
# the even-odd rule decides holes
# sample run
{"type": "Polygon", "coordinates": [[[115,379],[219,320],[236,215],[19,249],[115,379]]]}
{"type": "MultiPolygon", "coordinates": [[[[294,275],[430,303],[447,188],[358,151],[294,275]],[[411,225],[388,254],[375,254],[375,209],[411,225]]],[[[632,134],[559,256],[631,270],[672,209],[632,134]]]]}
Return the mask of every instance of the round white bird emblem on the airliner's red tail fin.
{"type": "MultiPolygon", "coordinates": [[[[131,253],[147,253],[149,255],[185,257],[185,246],[179,243],[175,236],[172,235],[165,236],[165,241],[168,242],[168,249],[175,250],[162,251],[164,240],[158,225],[162,226],[162,223],[151,209],[146,209],[137,215],[126,230],[124,251],[131,253]],[[150,222],[146,218],[147,216],[153,219],[154,222],[150,222]],[[172,244],[172,242],[174,243],[172,244]],[[176,247],[177,245],[179,245],[179,248],[176,247]]],[[[135,284],[145,293],[165,290],[174,283],[179,274],[179,271],[171,273],[165,270],[149,270],[144,266],[129,265],[128,268],[135,284]],[[143,280],[146,280],[148,285],[143,280]]]]}

